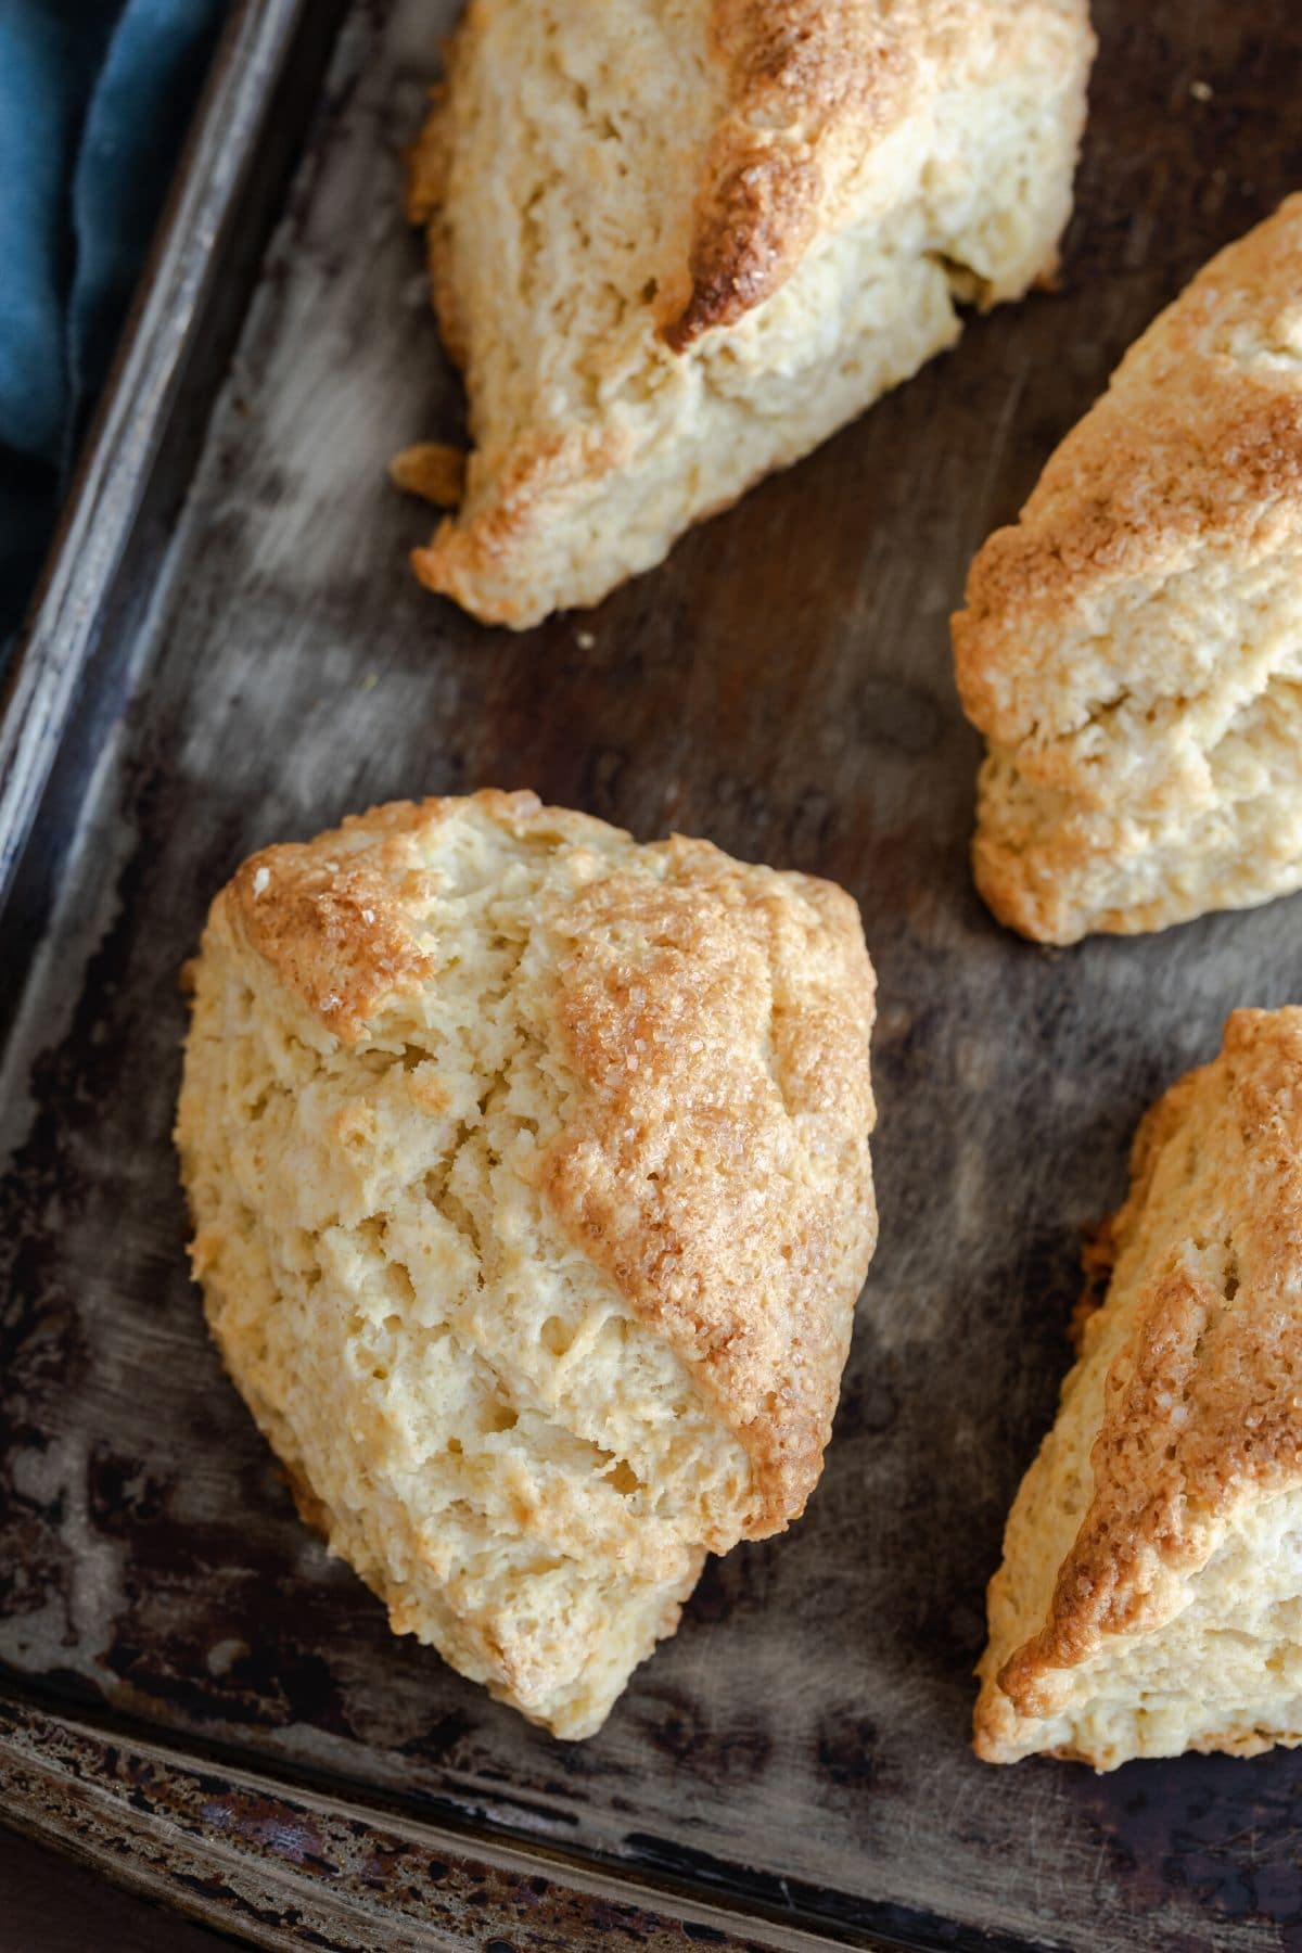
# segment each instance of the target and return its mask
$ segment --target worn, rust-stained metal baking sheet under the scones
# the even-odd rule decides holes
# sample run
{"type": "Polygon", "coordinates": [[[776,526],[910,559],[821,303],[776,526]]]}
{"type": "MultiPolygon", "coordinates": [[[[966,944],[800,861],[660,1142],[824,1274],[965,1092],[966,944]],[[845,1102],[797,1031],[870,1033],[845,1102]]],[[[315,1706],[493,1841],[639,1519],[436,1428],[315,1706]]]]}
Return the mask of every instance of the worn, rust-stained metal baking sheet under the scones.
{"type": "Polygon", "coordinates": [[[1226,1012],[1302,996],[1298,902],[1048,955],[968,881],[966,562],[1302,184],[1294,0],[1097,16],[1062,289],[519,639],[416,588],[426,512],[385,482],[459,412],[396,156],[449,8],[357,0],[324,90],[330,10],[244,10],[0,732],[10,1820],[265,1945],[1302,1947],[1302,1758],[1097,1779],[966,1746],[1079,1230],[1226,1012]],[[880,973],[882,1244],[826,1478],[582,1746],[392,1639],[299,1523],[205,1338],[168,1139],[178,967],[234,863],[486,783],[832,875],[880,973]]]}

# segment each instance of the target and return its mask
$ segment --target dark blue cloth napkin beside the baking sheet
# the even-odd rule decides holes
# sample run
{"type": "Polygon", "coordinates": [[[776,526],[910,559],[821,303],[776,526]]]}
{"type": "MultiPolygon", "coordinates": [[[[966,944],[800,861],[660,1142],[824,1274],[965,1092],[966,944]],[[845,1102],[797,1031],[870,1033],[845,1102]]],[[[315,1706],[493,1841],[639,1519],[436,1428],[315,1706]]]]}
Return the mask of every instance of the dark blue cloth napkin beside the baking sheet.
{"type": "Polygon", "coordinates": [[[0,0],[0,652],[228,0],[0,0]]]}

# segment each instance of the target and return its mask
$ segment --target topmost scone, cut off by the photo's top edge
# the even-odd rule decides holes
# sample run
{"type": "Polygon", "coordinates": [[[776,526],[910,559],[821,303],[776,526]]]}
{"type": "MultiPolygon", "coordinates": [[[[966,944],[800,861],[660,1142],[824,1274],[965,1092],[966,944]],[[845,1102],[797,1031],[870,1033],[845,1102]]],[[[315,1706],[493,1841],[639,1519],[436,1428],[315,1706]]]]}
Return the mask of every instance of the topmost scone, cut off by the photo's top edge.
{"type": "Polygon", "coordinates": [[[595,603],[1056,266],[1087,0],[470,0],[412,150],[472,453],[414,557],[595,603]]]}

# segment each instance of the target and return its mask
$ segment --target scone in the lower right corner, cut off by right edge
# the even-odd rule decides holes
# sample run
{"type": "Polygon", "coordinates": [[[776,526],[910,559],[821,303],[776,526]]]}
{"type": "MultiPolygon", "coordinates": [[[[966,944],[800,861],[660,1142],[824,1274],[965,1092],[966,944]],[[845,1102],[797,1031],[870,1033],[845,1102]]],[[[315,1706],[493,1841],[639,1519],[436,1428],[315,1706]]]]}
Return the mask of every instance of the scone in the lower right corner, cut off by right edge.
{"type": "Polygon", "coordinates": [[[1302,1010],[1148,1113],[990,1584],[976,1750],[1113,1769],[1302,1742],[1302,1010]]]}

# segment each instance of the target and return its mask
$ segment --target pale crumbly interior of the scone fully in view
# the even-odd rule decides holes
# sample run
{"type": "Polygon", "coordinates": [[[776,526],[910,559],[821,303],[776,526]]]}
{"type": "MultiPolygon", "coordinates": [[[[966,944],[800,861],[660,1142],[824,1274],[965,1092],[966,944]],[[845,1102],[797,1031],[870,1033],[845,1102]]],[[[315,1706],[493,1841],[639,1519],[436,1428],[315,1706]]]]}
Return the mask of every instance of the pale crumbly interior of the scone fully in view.
{"type": "Polygon", "coordinates": [[[535,1166],[574,1082],[521,900],[541,850],[457,844],[426,934],[449,961],[365,1051],[205,955],[193,1258],[260,1424],[394,1627],[574,1736],[732,1545],[752,1473],[547,1213],[535,1166]]]}

